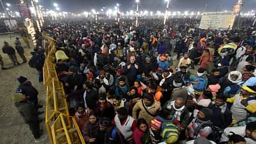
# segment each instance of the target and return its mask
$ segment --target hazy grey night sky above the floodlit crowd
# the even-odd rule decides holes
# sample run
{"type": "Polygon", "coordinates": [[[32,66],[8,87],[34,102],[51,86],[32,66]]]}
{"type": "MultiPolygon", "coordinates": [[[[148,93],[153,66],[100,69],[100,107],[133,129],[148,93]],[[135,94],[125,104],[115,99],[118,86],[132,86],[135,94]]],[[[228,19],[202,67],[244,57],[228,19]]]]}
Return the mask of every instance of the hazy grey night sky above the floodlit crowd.
{"type": "MultiPolygon", "coordinates": [[[[11,4],[19,3],[19,0],[2,0],[11,4]]],[[[48,9],[54,9],[53,2],[59,4],[61,11],[83,12],[95,9],[100,11],[102,7],[114,9],[117,2],[121,4],[120,10],[135,10],[135,0],[38,0],[39,4],[48,9]]],[[[170,0],[169,11],[203,11],[207,3],[207,11],[232,11],[232,7],[237,0],[170,0]]],[[[166,2],[164,0],[140,0],[141,11],[164,11],[166,2]]],[[[1,7],[2,8],[2,7],[1,7]]],[[[256,10],[256,0],[247,0],[243,12],[256,10]]]]}

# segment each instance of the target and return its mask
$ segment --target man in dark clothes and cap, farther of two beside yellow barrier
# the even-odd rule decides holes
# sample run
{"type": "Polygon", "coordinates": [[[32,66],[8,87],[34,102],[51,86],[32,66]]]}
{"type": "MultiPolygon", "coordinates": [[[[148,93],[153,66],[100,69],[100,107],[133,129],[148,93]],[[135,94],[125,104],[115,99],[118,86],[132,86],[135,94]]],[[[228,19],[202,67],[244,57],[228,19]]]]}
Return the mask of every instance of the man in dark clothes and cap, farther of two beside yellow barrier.
{"type": "Polygon", "coordinates": [[[35,104],[37,108],[43,108],[42,105],[38,104],[38,91],[33,87],[32,83],[28,81],[28,78],[20,76],[17,80],[20,85],[17,88],[16,93],[22,93],[22,95],[25,95],[27,100],[35,104]]]}

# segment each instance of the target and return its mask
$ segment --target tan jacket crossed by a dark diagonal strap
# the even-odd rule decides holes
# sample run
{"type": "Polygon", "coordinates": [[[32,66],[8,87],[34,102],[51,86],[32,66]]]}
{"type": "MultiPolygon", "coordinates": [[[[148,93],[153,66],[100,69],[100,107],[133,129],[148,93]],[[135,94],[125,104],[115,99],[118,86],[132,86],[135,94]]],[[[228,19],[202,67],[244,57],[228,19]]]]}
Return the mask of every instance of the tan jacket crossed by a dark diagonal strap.
{"type": "Polygon", "coordinates": [[[134,108],[132,109],[132,117],[134,117],[134,119],[143,118],[149,124],[151,119],[153,117],[155,117],[156,113],[160,109],[160,106],[161,106],[160,103],[158,101],[155,101],[150,107],[147,107],[143,103],[143,99],[139,100],[139,101],[137,101],[137,103],[135,104],[134,108]],[[150,114],[148,114],[148,112],[146,111],[145,108],[147,108],[147,111],[150,112],[150,114]],[[140,110],[139,117],[137,117],[137,112],[139,110],[140,110]]]}

